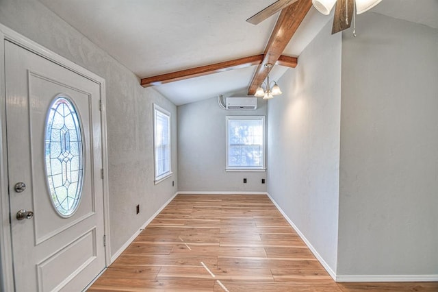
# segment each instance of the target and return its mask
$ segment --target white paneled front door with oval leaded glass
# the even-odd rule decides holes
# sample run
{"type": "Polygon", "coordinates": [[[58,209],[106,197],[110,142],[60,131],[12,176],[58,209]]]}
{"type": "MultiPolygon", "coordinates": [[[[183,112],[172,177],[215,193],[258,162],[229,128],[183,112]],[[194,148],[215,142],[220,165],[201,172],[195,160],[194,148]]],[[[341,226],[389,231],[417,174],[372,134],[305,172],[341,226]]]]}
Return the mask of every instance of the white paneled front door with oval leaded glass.
{"type": "Polygon", "coordinates": [[[5,42],[16,291],[81,291],[105,268],[99,84],[5,42]]]}

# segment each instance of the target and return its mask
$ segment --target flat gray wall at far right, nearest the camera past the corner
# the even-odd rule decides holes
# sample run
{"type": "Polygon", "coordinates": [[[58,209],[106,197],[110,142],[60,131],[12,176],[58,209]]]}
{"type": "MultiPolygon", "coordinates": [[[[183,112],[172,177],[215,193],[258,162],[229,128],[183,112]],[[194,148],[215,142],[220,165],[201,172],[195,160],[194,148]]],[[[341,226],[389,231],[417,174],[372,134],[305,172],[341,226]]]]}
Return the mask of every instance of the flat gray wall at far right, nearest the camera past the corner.
{"type": "Polygon", "coordinates": [[[438,274],[438,29],[365,13],[342,42],[342,275],[438,274]]]}

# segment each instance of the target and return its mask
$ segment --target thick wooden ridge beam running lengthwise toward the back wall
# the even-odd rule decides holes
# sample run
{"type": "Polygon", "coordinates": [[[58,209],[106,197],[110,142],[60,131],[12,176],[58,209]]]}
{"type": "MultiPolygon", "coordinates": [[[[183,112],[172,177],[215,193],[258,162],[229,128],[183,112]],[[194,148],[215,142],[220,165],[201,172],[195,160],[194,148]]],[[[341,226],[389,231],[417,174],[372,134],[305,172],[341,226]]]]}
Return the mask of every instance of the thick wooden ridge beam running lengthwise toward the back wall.
{"type": "Polygon", "coordinates": [[[248,95],[254,95],[257,86],[268,76],[268,70],[264,64],[275,64],[279,60],[281,53],[283,53],[290,39],[294,36],[296,29],[298,29],[307,12],[309,12],[311,5],[311,0],[298,0],[281,10],[274,31],[269,38],[268,45],[266,45],[263,62],[257,67],[248,88],[248,95]]]}

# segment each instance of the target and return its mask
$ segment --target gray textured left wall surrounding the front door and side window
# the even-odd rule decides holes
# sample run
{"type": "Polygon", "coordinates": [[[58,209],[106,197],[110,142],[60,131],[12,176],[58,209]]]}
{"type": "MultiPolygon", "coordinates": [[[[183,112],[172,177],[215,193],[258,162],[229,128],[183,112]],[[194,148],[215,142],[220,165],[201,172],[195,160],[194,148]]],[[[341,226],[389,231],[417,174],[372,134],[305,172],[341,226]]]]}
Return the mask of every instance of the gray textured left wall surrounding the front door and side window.
{"type": "Polygon", "coordinates": [[[0,22],[106,80],[111,252],[177,192],[177,108],[36,0],[0,0],[0,22]],[[172,178],[154,185],[152,104],[172,114],[172,178]],[[172,187],[172,180],[175,186],[172,187]],[[136,205],[140,214],[136,215],[136,205]]]}

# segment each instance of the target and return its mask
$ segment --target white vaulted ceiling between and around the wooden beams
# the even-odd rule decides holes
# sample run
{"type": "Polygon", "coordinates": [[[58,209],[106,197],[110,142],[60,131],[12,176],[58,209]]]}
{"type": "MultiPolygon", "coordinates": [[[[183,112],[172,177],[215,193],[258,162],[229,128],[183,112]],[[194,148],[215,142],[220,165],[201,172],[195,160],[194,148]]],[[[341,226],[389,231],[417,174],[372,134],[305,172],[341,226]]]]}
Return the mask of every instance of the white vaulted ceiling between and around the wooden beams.
{"type": "MultiPolygon", "coordinates": [[[[138,77],[263,53],[278,13],[246,19],[274,0],[40,0],[138,77]]],[[[438,0],[384,0],[373,11],[438,28],[438,0]],[[418,5],[418,3],[422,5],[418,5]]],[[[331,21],[311,8],[283,55],[299,56],[331,21]]],[[[174,104],[245,95],[256,66],[155,86],[174,104]]],[[[287,70],[274,66],[278,80],[287,70]]],[[[293,70],[293,69],[292,69],[293,70]]]]}

